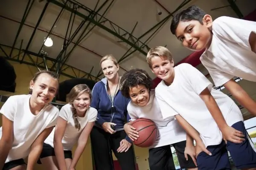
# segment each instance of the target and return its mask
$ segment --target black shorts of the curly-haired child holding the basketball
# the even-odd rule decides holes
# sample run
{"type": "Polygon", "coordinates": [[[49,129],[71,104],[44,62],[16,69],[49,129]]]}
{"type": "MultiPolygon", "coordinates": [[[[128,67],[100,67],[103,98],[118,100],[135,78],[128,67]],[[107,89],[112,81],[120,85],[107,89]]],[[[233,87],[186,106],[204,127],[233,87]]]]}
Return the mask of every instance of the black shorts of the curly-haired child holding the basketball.
{"type": "MultiPolygon", "coordinates": [[[[195,168],[195,164],[190,156],[186,160],[184,150],[186,141],[172,144],[177,153],[177,158],[180,163],[180,168],[195,168]]],[[[175,170],[175,164],[172,158],[172,150],[170,145],[155,147],[149,149],[149,167],[150,170],[175,170]]]]}

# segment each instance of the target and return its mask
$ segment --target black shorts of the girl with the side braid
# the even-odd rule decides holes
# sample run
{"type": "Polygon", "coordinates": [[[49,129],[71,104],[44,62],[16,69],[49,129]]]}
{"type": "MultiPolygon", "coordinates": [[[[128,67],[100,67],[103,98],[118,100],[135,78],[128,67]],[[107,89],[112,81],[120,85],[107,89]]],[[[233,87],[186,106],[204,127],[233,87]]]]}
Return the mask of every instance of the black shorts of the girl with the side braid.
{"type": "MultiPolygon", "coordinates": [[[[51,145],[44,143],[43,150],[40,155],[40,159],[48,157],[48,156],[55,156],[54,148],[51,145]]],[[[72,151],[64,150],[64,157],[65,157],[65,159],[67,159],[67,158],[72,159],[72,151]]]]}

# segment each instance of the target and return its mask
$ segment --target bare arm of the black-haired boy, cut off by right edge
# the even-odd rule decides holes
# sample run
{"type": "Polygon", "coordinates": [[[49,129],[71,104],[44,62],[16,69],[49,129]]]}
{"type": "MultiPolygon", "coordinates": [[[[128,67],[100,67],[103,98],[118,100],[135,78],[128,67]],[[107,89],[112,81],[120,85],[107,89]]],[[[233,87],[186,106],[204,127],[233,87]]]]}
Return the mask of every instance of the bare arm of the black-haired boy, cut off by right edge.
{"type": "Polygon", "coordinates": [[[256,116],[256,102],[244,91],[244,89],[233,79],[224,84],[224,87],[232,96],[246,108],[250,113],[256,116]]]}

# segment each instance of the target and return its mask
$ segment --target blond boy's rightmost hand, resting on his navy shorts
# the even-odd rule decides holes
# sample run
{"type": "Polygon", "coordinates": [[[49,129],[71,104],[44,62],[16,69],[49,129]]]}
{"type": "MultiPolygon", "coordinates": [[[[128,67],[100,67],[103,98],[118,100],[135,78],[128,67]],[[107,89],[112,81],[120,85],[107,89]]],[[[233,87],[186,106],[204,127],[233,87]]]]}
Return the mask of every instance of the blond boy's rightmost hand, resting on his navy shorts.
{"type": "Polygon", "coordinates": [[[222,136],[224,141],[227,143],[227,141],[233,142],[233,143],[242,143],[244,139],[244,134],[236,130],[233,127],[226,126],[221,130],[222,136]]]}

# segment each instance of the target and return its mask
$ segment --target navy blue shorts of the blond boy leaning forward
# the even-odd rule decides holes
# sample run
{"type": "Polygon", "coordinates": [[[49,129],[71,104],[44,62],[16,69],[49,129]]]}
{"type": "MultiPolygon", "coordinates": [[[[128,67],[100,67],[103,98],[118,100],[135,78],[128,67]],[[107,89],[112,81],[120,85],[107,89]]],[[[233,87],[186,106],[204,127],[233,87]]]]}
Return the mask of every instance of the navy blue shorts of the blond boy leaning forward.
{"type": "Polygon", "coordinates": [[[236,168],[252,168],[256,167],[256,152],[253,150],[253,144],[245,130],[244,122],[236,122],[232,125],[236,130],[243,132],[245,141],[241,144],[224,141],[218,145],[208,146],[207,149],[212,156],[204,152],[198,154],[197,163],[200,170],[231,170],[227,150],[230,152],[236,168]]]}

